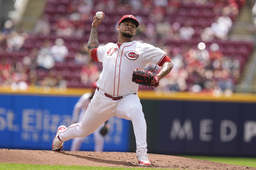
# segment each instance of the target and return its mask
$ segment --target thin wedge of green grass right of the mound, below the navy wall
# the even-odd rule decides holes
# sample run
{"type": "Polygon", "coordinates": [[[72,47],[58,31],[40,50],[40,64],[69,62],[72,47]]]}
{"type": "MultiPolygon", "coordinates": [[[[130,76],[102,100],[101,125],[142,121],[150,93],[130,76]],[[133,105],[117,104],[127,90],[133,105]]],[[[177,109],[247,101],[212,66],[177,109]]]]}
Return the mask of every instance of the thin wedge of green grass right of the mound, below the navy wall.
{"type": "Polygon", "coordinates": [[[247,166],[256,168],[256,158],[241,158],[241,157],[206,157],[206,156],[178,156],[192,158],[197,160],[206,160],[217,163],[232,164],[238,166],[247,166]]]}

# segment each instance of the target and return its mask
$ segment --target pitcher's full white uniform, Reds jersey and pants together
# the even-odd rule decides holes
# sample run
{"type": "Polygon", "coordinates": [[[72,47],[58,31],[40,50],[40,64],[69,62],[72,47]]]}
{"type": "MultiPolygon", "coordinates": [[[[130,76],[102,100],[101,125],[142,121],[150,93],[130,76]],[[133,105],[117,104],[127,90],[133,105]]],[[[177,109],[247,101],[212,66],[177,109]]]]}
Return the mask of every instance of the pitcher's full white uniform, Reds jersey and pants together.
{"type": "Polygon", "coordinates": [[[98,88],[81,122],[60,132],[59,139],[64,142],[87,136],[107,119],[116,116],[132,122],[136,153],[142,150],[147,152],[146,122],[136,95],[138,84],[131,81],[132,72],[135,68],[144,69],[149,62],[160,64],[165,55],[161,49],[138,41],[124,42],[121,45],[107,43],[93,49],[92,59],[103,65],[96,83],[98,88]]]}

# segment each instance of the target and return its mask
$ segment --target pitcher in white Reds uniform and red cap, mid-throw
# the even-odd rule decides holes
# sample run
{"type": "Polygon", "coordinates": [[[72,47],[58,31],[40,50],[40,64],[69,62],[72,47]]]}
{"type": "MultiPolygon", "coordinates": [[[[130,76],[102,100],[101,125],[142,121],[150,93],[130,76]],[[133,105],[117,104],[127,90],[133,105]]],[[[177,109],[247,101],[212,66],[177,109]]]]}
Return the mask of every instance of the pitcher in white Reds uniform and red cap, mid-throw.
{"type": "Polygon", "coordinates": [[[102,62],[103,66],[96,83],[97,89],[81,122],[57,129],[52,151],[60,151],[63,142],[87,136],[106,120],[116,116],[132,122],[138,165],[150,166],[147,157],[146,122],[137,96],[138,84],[131,81],[132,73],[136,68],[144,69],[147,63],[153,63],[161,67],[156,74],[160,80],[171,71],[173,64],[161,49],[133,40],[139,25],[133,15],[124,15],[119,20],[117,43],[99,46],[97,28],[105,17],[103,12],[102,14],[101,19],[93,17],[88,41],[91,58],[102,62]]]}

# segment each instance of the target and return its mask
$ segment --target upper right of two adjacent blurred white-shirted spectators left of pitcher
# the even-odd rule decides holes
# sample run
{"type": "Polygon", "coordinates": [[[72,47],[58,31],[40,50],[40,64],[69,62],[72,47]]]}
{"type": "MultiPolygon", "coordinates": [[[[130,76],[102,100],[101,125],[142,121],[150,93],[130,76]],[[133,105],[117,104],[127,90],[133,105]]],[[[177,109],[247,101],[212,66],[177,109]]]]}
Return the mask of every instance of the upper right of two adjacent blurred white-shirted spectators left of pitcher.
{"type": "Polygon", "coordinates": [[[64,40],[57,38],[55,45],[50,48],[50,54],[53,56],[55,62],[64,62],[68,55],[68,49],[64,45],[64,40]]]}

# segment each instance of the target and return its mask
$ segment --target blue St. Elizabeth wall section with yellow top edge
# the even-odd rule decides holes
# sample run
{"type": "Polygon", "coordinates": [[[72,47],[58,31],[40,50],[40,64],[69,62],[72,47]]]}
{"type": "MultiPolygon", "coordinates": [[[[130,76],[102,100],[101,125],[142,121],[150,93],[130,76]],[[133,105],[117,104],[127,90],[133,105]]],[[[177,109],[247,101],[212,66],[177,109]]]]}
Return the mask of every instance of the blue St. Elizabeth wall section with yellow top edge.
{"type": "MultiPolygon", "coordinates": [[[[79,93],[88,91],[75,94],[48,90],[0,93],[0,148],[51,150],[57,127],[70,125],[79,93]]],[[[129,151],[129,121],[113,117],[108,122],[111,127],[105,138],[104,151],[129,151]]],[[[69,151],[71,142],[66,141],[63,150],[69,151]]],[[[92,134],[84,139],[81,150],[94,151],[92,134]]]]}

